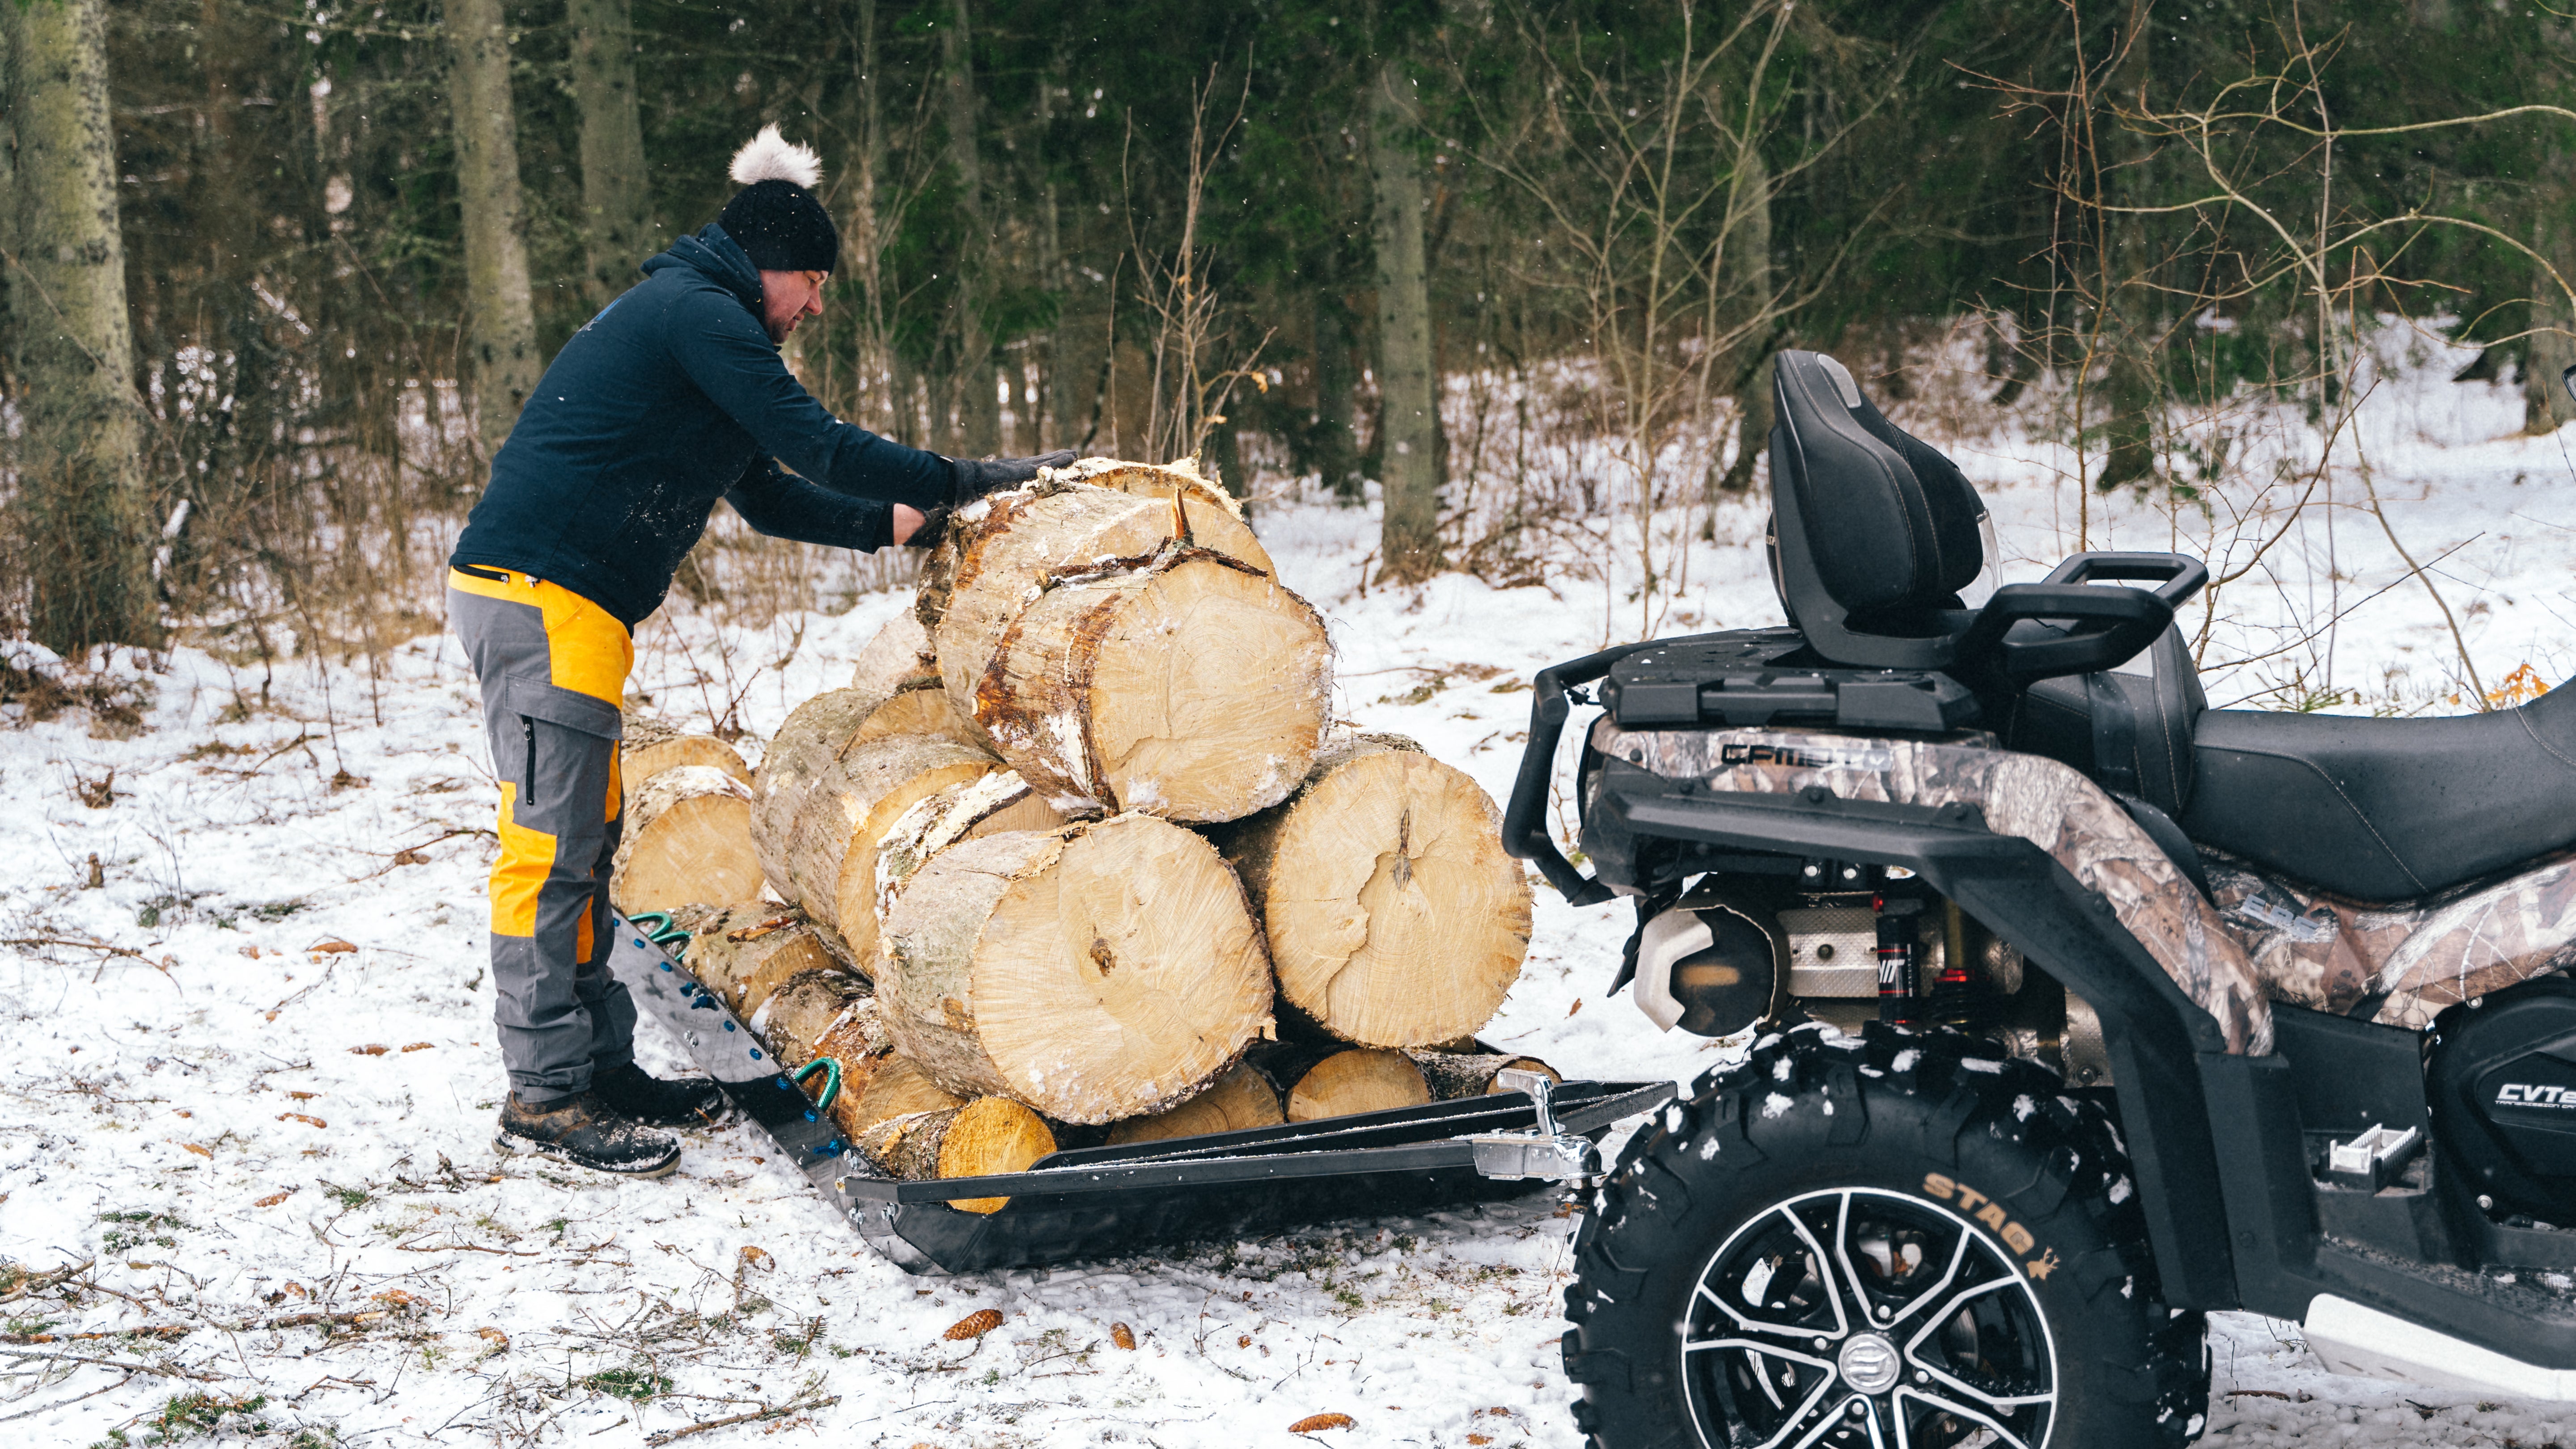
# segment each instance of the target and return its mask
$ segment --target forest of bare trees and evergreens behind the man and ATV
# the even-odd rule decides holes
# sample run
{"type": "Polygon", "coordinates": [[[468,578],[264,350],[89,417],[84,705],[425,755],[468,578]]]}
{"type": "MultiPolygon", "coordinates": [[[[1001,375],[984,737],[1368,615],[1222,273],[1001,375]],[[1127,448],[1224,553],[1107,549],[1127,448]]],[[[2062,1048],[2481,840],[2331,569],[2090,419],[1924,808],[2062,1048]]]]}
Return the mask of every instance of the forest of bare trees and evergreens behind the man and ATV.
{"type": "MultiPolygon", "coordinates": [[[[1620,546],[1636,628],[1780,347],[1899,420],[1965,358],[2079,497],[2179,510],[2282,468],[2213,409],[2331,453],[2391,324],[2576,414],[2576,26],[2509,0],[0,0],[0,633],[67,656],[435,631],[518,399],[773,121],[837,414],[1378,504],[1391,582],[1620,546]]],[[[907,569],[719,517],[680,589],[907,569]]]]}

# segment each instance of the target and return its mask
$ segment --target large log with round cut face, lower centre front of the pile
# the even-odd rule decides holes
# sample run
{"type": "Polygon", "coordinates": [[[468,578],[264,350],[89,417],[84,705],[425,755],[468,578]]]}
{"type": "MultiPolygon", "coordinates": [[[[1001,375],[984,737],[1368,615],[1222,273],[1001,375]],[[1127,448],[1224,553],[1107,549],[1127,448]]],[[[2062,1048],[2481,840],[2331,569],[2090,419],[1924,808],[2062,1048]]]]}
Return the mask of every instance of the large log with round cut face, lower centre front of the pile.
{"type": "Polygon", "coordinates": [[[1270,963],[1208,842],[1151,816],[953,844],[886,914],[886,1035],[948,1091],[1115,1122],[1270,1027],[1270,963]]]}

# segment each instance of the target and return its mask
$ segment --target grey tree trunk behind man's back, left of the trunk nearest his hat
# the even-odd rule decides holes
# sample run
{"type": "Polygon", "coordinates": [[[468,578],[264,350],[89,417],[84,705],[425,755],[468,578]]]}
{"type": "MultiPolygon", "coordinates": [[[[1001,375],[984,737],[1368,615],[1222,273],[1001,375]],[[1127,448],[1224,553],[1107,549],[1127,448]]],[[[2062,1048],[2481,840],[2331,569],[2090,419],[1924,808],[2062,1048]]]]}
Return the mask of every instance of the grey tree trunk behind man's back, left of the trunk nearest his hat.
{"type": "Polygon", "coordinates": [[[464,201],[474,430],[489,463],[544,373],[520,232],[510,31],[500,0],[448,0],[446,31],[456,77],[448,106],[456,116],[456,196],[464,201]]]}

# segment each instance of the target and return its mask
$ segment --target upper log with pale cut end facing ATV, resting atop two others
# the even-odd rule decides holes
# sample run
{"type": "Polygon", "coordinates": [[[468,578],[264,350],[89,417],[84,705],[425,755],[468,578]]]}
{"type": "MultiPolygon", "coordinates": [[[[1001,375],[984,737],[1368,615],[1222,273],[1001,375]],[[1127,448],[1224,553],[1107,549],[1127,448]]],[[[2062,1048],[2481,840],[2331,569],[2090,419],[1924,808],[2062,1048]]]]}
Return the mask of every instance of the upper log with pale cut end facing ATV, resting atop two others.
{"type": "MultiPolygon", "coordinates": [[[[945,649],[945,646],[943,646],[945,649]]],[[[1167,548],[1061,579],[971,682],[994,749],[1064,816],[1234,821],[1288,798],[1324,731],[1324,620],[1247,564],[1167,548]]]]}

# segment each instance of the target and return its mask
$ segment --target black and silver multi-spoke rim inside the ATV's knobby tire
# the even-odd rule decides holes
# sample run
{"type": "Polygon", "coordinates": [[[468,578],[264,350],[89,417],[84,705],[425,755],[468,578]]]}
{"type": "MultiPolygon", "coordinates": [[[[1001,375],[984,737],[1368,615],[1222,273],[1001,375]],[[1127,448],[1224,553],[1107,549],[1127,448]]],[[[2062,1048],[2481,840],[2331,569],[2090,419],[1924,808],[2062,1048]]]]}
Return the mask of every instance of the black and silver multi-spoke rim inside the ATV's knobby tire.
{"type": "Polygon", "coordinates": [[[1682,1318],[1705,1449],[2043,1449],[2058,1356],[2020,1261],[1965,1217],[1844,1186],[1728,1233],[1682,1318]]]}

